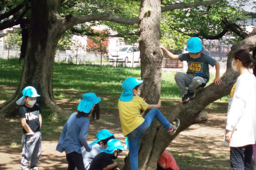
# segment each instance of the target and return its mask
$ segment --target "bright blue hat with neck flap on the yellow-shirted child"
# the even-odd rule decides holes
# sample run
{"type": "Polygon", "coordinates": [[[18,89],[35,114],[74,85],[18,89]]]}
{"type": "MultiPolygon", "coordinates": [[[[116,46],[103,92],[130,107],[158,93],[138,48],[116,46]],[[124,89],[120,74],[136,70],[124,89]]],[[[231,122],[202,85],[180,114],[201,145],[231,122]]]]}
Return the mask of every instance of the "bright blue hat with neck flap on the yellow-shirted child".
{"type": "Polygon", "coordinates": [[[135,77],[126,78],[122,83],[123,92],[120,96],[121,101],[130,101],[133,99],[133,89],[136,85],[139,85],[143,80],[138,80],[135,77]]]}

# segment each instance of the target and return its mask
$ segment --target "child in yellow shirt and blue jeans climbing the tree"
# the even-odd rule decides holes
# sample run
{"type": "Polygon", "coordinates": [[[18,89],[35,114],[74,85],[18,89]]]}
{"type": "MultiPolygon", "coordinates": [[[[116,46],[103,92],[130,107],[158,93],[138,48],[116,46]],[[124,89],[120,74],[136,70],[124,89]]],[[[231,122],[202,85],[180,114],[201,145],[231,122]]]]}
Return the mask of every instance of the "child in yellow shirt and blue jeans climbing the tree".
{"type": "Polygon", "coordinates": [[[121,121],[122,131],[124,136],[128,136],[130,145],[130,163],[131,169],[138,169],[138,151],[139,142],[142,134],[146,132],[150,124],[156,117],[157,120],[164,126],[172,135],[177,130],[180,120],[177,118],[170,123],[158,109],[161,106],[161,100],[158,104],[148,104],[142,97],[141,83],[143,80],[138,80],[134,77],[126,78],[122,83],[123,93],[118,100],[119,117],[121,121]],[[145,117],[142,117],[140,111],[151,109],[145,117]]]}

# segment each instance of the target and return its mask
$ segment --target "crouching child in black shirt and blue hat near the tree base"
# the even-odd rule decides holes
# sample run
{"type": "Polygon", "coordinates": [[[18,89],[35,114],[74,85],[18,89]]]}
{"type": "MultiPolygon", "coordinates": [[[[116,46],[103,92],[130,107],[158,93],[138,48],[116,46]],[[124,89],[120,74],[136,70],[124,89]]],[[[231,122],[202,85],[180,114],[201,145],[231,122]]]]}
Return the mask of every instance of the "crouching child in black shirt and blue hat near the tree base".
{"type": "Polygon", "coordinates": [[[119,169],[118,164],[112,159],[116,159],[118,154],[125,150],[120,140],[113,138],[108,140],[107,148],[100,151],[91,162],[89,170],[113,170],[119,169]]]}

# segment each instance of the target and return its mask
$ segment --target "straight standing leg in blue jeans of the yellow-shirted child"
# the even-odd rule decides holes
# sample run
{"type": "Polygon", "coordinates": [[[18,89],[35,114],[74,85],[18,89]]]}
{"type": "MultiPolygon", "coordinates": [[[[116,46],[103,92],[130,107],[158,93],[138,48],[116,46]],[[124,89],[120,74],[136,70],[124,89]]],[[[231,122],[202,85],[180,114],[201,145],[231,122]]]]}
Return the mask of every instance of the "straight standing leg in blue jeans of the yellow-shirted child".
{"type": "Polygon", "coordinates": [[[139,127],[137,127],[134,131],[128,134],[131,170],[138,170],[139,143],[140,143],[142,134],[148,128],[149,128],[149,124],[146,121],[144,121],[139,127]]]}

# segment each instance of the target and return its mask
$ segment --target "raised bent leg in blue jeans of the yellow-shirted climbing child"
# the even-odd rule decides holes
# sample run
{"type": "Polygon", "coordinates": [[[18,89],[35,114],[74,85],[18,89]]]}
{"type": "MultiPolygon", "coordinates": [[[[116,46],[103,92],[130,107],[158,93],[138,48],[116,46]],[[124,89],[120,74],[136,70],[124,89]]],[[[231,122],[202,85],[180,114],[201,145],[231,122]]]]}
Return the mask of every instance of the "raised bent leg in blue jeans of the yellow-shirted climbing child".
{"type": "Polygon", "coordinates": [[[165,129],[169,130],[172,127],[170,122],[165,118],[165,116],[161,113],[161,111],[158,108],[151,109],[144,118],[145,121],[147,121],[147,123],[150,125],[155,117],[163,125],[165,129]]]}

